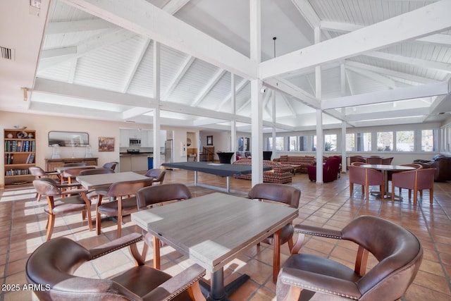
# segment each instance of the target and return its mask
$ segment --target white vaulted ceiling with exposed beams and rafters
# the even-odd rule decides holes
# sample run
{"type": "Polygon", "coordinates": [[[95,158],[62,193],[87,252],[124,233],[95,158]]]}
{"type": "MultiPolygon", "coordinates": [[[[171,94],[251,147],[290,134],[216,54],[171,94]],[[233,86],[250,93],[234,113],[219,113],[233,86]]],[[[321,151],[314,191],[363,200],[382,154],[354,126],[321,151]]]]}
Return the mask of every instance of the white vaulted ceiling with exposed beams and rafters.
{"type": "Polygon", "coordinates": [[[325,128],[449,117],[451,1],[263,0],[261,63],[249,2],[8,1],[0,110],[152,123],[159,107],[161,125],[246,131],[261,78],[264,127],[280,131],[314,128],[317,109],[325,128]]]}

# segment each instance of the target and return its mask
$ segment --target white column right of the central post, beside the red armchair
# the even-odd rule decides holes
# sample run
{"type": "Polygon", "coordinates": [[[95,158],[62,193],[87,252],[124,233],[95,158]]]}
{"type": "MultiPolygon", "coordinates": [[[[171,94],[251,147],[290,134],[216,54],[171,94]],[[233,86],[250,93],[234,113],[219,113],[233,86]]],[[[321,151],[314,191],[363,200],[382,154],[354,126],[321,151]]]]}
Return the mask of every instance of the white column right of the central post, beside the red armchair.
{"type": "MultiPolygon", "coordinates": [[[[321,42],[321,28],[315,27],[315,44],[321,42]]],[[[321,66],[315,67],[315,97],[321,99],[321,66]]],[[[323,111],[316,110],[316,183],[323,183],[323,111]]]]}

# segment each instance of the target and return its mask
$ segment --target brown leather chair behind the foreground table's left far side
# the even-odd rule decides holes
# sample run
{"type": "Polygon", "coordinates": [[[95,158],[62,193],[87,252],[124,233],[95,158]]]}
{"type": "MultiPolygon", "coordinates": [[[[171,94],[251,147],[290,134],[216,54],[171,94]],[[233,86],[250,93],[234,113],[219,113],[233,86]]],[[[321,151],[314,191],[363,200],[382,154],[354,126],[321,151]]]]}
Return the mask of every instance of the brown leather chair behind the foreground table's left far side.
{"type": "MultiPolygon", "coordinates": [[[[141,188],[136,192],[138,210],[145,210],[156,204],[162,205],[164,202],[183,200],[192,198],[190,190],[180,183],[155,185],[141,188]]],[[[144,248],[142,257],[146,258],[147,248],[153,246],[153,235],[147,231],[142,231],[144,236],[144,248]]],[[[159,267],[159,263],[156,264],[159,267]]]]}

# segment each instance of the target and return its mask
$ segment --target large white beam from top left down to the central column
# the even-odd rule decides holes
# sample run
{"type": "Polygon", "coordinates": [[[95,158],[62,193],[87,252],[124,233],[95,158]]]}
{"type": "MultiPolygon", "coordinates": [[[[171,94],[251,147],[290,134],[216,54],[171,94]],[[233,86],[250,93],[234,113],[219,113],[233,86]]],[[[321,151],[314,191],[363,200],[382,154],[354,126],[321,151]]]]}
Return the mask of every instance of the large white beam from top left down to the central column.
{"type": "Polygon", "coordinates": [[[228,47],[206,33],[187,25],[145,0],[64,0],[86,11],[161,44],[202,59],[243,78],[257,78],[256,61],[228,47]]]}

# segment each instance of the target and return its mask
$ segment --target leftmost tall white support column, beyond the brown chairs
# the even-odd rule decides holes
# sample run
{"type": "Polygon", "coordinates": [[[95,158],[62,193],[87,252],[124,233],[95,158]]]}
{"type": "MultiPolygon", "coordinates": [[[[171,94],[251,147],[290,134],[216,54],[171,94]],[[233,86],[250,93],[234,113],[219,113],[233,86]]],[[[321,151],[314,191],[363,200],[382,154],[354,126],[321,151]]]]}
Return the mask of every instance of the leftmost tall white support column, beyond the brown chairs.
{"type": "MultiPolygon", "coordinates": [[[[154,99],[159,104],[160,102],[160,63],[161,51],[160,43],[154,41],[154,99]]],[[[160,106],[157,105],[154,109],[154,168],[160,168],[162,163],[160,160],[160,106]]]]}

